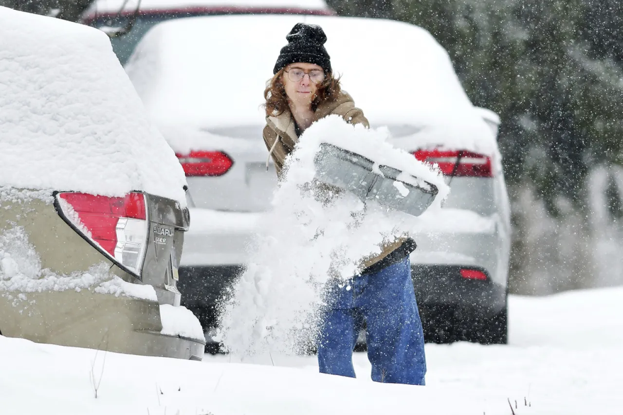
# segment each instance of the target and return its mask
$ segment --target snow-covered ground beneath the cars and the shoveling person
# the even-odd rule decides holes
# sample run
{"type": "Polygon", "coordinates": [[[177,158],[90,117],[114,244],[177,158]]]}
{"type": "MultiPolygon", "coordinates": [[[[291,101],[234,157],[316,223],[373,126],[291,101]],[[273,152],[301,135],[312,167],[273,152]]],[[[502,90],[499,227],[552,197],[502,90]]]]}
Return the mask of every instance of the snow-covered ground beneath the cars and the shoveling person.
{"type": "Polygon", "coordinates": [[[621,300],[623,288],[511,297],[510,345],[427,345],[426,387],[369,381],[363,353],[359,378],[346,379],[316,373],[313,357],[272,356],[295,367],[269,356],[198,363],[0,337],[0,412],[621,414],[621,300]]]}

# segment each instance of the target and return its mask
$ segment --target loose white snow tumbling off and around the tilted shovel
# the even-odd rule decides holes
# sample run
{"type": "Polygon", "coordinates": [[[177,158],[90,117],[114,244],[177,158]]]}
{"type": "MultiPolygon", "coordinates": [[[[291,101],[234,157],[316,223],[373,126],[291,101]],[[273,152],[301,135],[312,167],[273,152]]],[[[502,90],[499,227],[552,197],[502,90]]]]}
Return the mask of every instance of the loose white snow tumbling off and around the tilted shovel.
{"type": "Polygon", "coordinates": [[[449,189],[442,176],[412,155],[392,148],[386,133],[350,125],[340,117],[318,121],[301,136],[288,157],[285,179],[273,209],[259,224],[257,250],[224,305],[221,340],[232,353],[293,351],[313,339],[321,290],[328,276],[347,279],[360,272],[360,260],[380,253],[379,244],[409,234],[418,218],[364,205],[350,193],[325,204],[310,190],[314,157],[321,143],[395,166],[439,187],[434,206],[449,189]],[[294,333],[294,334],[293,334],[294,333]]]}

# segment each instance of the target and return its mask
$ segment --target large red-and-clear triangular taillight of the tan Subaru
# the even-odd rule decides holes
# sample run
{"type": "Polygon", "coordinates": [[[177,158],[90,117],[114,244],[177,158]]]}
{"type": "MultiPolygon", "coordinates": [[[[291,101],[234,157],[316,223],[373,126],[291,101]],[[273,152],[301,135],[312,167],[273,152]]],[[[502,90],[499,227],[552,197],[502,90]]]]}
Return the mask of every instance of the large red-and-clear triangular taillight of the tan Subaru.
{"type": "Polygon", "coordinates": [[[140,277],[147,246],[147,211],[143,193],[108,198],[87,193],[57,193],[65,221],[112,260],[140,277]]]}

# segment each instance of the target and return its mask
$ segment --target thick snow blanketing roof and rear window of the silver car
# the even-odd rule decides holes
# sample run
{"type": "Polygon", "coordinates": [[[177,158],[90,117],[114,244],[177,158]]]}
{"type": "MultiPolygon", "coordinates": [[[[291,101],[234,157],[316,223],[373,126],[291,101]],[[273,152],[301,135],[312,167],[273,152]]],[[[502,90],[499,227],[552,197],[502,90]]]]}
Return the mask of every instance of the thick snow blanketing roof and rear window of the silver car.
{"type": "Polygon", "coordinates": [[[143,37],[126,72],[159,124],[263,125],[265,83],[285,35],[300,21],[323,27],[333,70],[372,125],[416,125],[430,142],[454,140],[487,153],[497,148],[445,49],[407,23],[334,16],[176,19],[143,37]]]}

